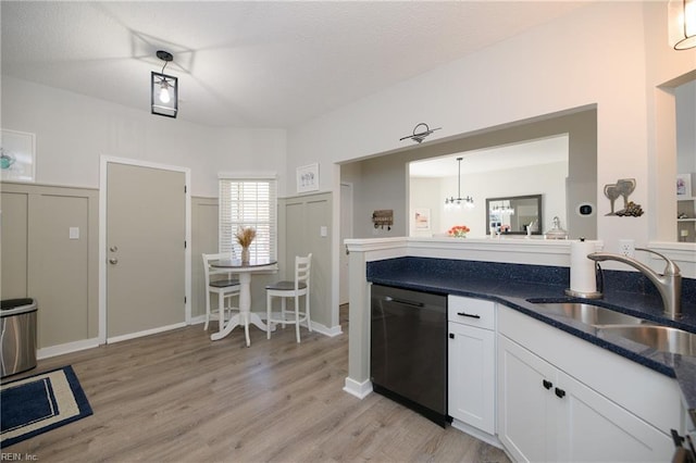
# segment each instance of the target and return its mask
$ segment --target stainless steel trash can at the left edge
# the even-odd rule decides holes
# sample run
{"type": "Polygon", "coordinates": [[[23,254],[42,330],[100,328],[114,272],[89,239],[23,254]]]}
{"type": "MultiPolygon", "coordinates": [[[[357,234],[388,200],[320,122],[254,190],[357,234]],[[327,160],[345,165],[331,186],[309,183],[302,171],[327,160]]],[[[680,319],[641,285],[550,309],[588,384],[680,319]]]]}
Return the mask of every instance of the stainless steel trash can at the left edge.
{"type": "Polygon", "coordinates": [[[0,301],[0,376],[5,377],[36,366],[35,299],[0,301]]]}

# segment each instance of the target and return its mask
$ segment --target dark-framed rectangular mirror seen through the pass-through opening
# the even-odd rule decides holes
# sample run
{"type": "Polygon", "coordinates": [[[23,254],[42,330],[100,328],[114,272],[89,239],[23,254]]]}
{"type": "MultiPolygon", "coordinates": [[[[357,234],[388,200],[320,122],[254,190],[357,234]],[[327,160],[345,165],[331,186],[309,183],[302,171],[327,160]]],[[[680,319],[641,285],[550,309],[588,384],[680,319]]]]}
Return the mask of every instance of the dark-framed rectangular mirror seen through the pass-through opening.
{"type": "Polygon", "coordinates": [[[486,198],[486,235],[542,235],[542,195],[486,198]]]}

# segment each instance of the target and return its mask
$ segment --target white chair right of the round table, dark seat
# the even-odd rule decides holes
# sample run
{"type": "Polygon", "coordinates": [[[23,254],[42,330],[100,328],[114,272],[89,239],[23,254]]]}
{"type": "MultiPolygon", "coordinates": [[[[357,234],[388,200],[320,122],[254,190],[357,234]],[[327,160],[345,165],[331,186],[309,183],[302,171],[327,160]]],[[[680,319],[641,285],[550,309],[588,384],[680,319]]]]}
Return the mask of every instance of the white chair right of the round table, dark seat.
{"type": "Polygon", "coordinates": [[[266,338],[271,339],[271,324],[279,323],[284,328],[286,324],[295,324],[297,342],[300,341],[300,323],[307,322],[307,328],[312,330],[312,322],[309,312],[309,276],[312,265],[312,254],[307,258],[295,258],[295,280],[277,281],[265,287],[266,293],[266,338]],[[304,312],[300,312],[300,297],[304,296],[304,312]],[[281,313],[277,318],[273,317],[273,298],[281,298],[281,313]],[[295,317],[286,317],[286,299],[295,299],[295,317]]]}

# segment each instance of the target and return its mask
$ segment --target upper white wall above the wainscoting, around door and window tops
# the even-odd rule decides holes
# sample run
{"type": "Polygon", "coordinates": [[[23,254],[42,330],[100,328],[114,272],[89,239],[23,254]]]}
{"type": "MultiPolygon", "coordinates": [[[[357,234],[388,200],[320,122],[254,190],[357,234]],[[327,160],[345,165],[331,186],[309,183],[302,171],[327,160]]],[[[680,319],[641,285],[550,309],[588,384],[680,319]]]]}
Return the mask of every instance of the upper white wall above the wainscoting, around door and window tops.
{"type": "Polygon", "coordinates": [[[195,196],[217,197],[221,171],[286,171],[285,130],[206,127],[7,76],[2,128],[36,134],[40,184],[97,188],[101,154],[189,167],[195,196]]]}

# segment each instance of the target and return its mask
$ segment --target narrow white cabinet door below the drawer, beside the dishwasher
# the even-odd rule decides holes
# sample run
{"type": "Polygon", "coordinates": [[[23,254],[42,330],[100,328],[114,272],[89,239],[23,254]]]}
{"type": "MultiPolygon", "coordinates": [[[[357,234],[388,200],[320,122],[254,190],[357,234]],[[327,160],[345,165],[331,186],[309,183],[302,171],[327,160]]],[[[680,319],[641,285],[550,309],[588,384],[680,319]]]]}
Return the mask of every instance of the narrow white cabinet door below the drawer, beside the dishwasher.
{"type": "Polygon", "coordinates": [[[449,415],[495,434],[495,333],[449,323],[449,415]]]}

